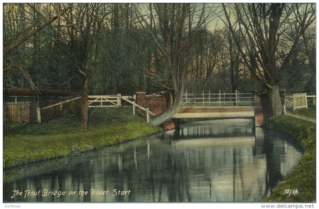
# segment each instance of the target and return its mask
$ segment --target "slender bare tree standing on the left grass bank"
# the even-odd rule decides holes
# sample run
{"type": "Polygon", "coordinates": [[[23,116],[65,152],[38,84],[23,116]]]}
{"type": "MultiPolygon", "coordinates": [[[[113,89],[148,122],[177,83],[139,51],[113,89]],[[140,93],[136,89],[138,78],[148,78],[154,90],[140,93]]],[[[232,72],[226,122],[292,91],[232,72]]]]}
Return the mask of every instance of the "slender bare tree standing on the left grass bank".
{"type": "Polygon", "coordinates": [[[82,76],[82,122],[81,131],[88,130],[88,93],[89,83],[100,51],[99,35],[108,25],[106,17],[110,14],[104,10],[104,4],[75,4],[67,14],[66,31],[70,37],[73,62],[82,76]]]}

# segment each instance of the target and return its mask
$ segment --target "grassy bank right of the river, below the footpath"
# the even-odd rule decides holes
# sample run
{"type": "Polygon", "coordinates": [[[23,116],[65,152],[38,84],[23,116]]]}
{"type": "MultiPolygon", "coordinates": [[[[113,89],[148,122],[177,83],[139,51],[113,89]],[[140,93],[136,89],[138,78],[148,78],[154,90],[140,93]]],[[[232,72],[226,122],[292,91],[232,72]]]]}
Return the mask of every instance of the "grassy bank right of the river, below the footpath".
{"type": "MultiPolygon", "coordinates": [[[[313,115],[313,111],[311,113],[313,115]]],[[[304,116],[304,115],[302,115],[304,116]]],[[[289,116],[268,119],[264,126],[271,131],[285,133],[297,140],[305,153],[297,167],[262,202],[313,202],[316,198],[316,126],[314,123],[289,116]],[[298,189],[298,195],[285,195],[286,189],[298,189]]]]}

